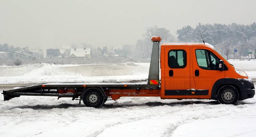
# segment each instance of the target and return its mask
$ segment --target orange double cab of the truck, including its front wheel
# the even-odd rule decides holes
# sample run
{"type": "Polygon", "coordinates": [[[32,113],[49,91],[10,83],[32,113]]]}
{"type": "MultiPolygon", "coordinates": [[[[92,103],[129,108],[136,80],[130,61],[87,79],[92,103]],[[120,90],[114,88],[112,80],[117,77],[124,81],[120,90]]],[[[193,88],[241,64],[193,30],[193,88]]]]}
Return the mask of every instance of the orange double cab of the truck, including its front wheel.
{"type": "Polygon", "coordinates": [[[252,98],[254,85],[207,43],[163,43],[161,99],[215,99],[223,104],[252,98]]]}

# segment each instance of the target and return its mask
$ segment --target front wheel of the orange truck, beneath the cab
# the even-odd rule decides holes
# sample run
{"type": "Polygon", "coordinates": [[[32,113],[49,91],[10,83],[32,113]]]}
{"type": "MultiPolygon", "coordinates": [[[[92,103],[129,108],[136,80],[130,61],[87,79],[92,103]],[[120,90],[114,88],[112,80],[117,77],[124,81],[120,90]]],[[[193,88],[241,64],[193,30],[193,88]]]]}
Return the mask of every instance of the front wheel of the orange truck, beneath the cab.
{"type": "Polygon", "coordinates": [[[239,99],[239,93],[234,86],[223,86],[220,88],[217,99],[220,104],[236,104],[239,99]]]}

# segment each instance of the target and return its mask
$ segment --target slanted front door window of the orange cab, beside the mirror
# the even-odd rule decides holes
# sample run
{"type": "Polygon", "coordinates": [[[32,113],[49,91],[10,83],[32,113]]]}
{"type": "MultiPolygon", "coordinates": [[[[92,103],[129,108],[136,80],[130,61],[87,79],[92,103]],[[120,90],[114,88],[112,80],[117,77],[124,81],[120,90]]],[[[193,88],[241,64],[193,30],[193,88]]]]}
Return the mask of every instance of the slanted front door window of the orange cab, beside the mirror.
{"type": "Polygon", "coordinates": [[[220,59],[211,51],[198,49],[196,50],[196,61],[200,68],[206,70],[217,70],[220,59]]]}

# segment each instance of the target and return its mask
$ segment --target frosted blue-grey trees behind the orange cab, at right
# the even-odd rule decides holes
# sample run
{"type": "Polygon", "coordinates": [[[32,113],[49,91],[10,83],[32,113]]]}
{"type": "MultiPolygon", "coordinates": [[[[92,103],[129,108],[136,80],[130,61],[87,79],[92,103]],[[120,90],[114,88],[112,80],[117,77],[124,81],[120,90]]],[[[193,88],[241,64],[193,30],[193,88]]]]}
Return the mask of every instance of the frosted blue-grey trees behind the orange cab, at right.
{"type": "MultiPolygon", "coordinates": [[[[177,30],[180,42],[202,42],[215,45],[217,51],[226,58],[234,54],[234,49],[238,51],[238,57],[248,55],[248,49],[256,52],[256,23],[243,24],[197,24],[195,28],[185,26],[177,30]]],[[[254,54],[254,58],[256,55],[254,54]]]]}

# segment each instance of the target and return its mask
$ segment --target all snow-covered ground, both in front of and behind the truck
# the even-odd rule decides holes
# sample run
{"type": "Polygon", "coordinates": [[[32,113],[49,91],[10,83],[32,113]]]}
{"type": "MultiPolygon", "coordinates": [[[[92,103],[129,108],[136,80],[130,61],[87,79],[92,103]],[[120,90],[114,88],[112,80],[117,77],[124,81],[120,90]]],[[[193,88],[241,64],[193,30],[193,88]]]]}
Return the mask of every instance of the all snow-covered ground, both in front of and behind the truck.
{"type": "MultiPolygon", "coordinates": [[[[256,79],[256,60],[230,63],[256,79]]],[[[148,68],[148,63],[0,66],[0,93],[3,84],[145,80],[148,68]]],[[[121,97],[99,109],[70,98],[22,96],[0,101],[0,137],[255,137],[255,127],[256,97],[235,106],[206,99],[121,97]]]]}

